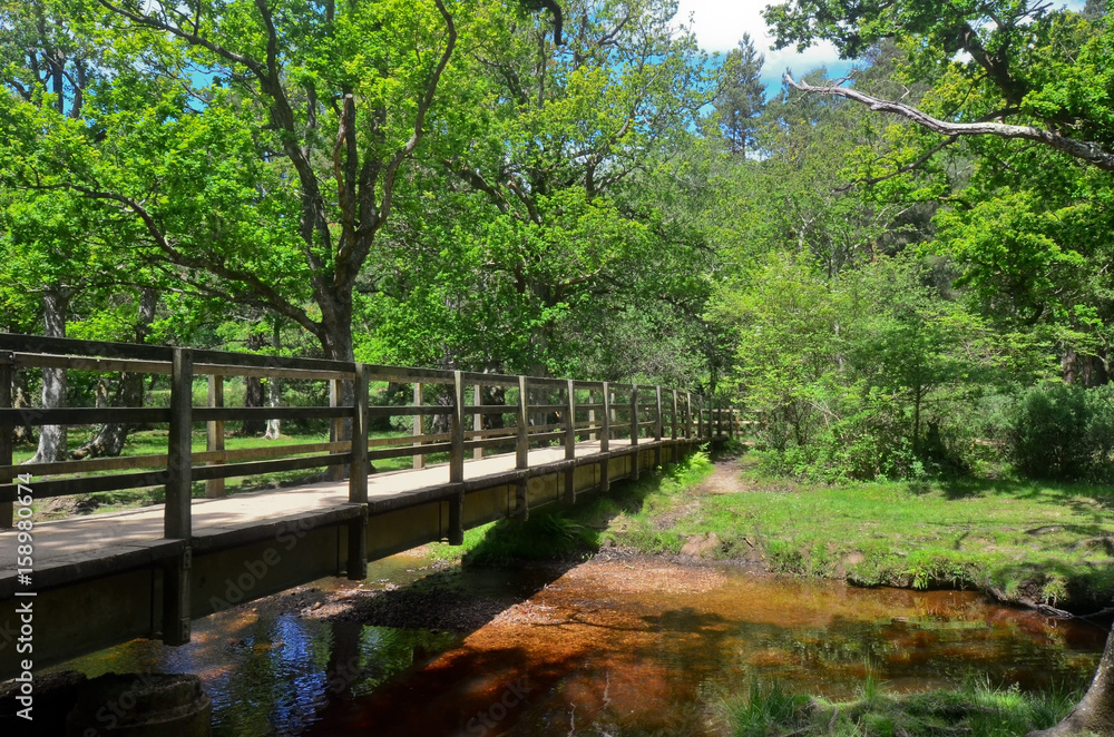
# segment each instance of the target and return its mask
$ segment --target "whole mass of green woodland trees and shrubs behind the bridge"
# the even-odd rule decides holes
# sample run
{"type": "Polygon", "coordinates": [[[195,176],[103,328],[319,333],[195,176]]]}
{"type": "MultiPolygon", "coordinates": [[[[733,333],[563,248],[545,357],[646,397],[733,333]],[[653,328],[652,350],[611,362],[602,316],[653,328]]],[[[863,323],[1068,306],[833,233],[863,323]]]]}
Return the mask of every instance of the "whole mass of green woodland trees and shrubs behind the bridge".
{"type": "Polygon", "coordinates": [[[2,0],[2,327],[687,386],[825,481],[1102,476],[1103,4],[774,4],[857,59],[781,90],[675,11],[2,0]]]}

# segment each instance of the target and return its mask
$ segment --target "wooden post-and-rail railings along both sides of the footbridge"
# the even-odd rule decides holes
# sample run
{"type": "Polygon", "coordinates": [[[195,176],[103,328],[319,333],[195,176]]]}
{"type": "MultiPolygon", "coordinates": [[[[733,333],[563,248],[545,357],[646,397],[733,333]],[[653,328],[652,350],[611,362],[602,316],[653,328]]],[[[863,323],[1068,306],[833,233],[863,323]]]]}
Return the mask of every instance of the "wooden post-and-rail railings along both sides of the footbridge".
{"type": "Polygon", "coordinates": [[[479,460],[485,451],[514,449],[516,468],[526,469],[532,448],[564,446],[564,456],[571,459],[576,444],[585,440],[597,442],[598,451],[606,453],[614,450],[613,441],[633,445],[649,440],[704,440],[734,434],[736,423],[735,410],[661,386],[0,334],[0,527],[11,525],[12,502],[18,494],[13,480],[20,473],[37,478],[38,500],[164,487],[165,537],[188,538],[195,482],[205,482],[207,497],[219,497],[228,478],[328,469],[335,481],[346,475],[349,501],[362,503],[368,500],[371,464],[379,460],[412,456],[413,468],[420,469],[431,455],[447,455],[448,460],[437,465],[447,469],[444,481],[451,484],[463,480],[469,451],[479,460]],[[14,409],[12,380],[19,368],[169,376],[169,403],[14,409]],[[326,382],[329,403],[225,406],[226,377],[326,382]],[[199,403],[195,401],[197,379],[207,384],[206,399],[199,403]],[[412,401],[372,406],[370,387],[374,382],[411,385],[412,401]],[[225,448],[227,423],[270,419],[326,420],[329,441],[225,448]],[[369,423],[375,419],[408,424],[412,420],[412,432],[370,438],[369,423]],[[165,424],[166,452],[22,465],[12,462],[16,426],[106,423],[165,424]],[[194,451],[197,423],[206,426],[206,442],[205,450],[194,451]]]}

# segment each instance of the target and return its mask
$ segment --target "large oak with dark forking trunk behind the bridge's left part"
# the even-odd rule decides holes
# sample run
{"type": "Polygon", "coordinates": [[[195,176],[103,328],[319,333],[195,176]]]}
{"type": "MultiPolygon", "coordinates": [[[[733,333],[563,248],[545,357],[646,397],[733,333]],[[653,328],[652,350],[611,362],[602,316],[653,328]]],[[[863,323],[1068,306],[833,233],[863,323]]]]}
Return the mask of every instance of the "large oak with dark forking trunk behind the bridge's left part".
{"type": "Polygon", "coordinates": [[[195,288],[265,306],[350,360],[355,282],[456,46],[441,0],[72,12],[115,39],[115,76],[72,147],[86,150],[21,184],[110,204],[195,288]],[[98,134],[116,156],[89,156],[98,134]]]}

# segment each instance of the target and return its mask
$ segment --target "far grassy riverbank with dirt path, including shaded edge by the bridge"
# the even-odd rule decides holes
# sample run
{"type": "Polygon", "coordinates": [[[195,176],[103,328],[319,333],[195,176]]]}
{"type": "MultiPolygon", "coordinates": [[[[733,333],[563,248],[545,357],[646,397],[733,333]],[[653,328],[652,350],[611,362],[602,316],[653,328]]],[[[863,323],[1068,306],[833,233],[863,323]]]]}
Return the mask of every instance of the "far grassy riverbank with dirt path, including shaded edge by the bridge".
{"type": "MultiPolygon", "coordinates": [[[[760,478],[745,454],[697,458],[539,525],[565,551],[629,548],[761,567],[854,586],[976,589],[990,598],[1100,619],[1114,600],[1114,488],[1016,481],[818,487],[760,478]],[[1105,610],[1105,612],[1104,612],[1105,610]]],[[[509,528],[510,525],[504,525],[509,528]]],[[[514,558],[495,525],[465,561],[514,558]]],[[[532,544],[532,543],[531,543],[532,544]]],[[[527,550],[527,558],[537,551],[527,550]]]]}

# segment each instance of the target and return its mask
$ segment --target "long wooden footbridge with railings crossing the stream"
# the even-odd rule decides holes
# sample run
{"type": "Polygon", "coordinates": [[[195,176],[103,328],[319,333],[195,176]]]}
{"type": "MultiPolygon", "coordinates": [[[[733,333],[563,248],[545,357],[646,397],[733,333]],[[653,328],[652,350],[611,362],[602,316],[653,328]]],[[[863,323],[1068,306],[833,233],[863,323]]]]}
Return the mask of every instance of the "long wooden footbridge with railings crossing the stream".
{"type": "Polygon", "coordinates": [[[137,637],[185,643],[192,619],[325,576],[362,580],[369,560],[460,544],[468,528],[606,492],[737,430],[734,410],[661,386],[0,334],[0,679],[137,637]],[[169,403],[13,409],[19,368],[168,376],[169,403]],[[224,406],[229,376],[304,382],[322,397],[325,382],[329,404],[224,406]],[[373,405],[382,383],[412,401],[373,405]],[[483,387],[502,403],[483,404],[483,387]],[[330,441],[225,449],[225,423],[261,419],[328,420],[330,441]],[[369,436],[389,419],[412,433],[369,436]],[[12,463],[17,426],[104,423],[165,425],[166,453],[12,463]],[[199,423],[206,450],[194,452],[199,423]],[[373,472],[404,456],[412,469],[373,472]],[[228,478],[313,469],[326,480],[225,494],[228,478]],[[150,488],[165,488],[165,503],[31,517],[52,497],[150,488]]]}

